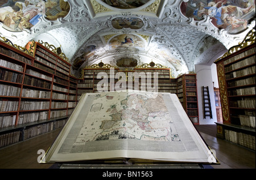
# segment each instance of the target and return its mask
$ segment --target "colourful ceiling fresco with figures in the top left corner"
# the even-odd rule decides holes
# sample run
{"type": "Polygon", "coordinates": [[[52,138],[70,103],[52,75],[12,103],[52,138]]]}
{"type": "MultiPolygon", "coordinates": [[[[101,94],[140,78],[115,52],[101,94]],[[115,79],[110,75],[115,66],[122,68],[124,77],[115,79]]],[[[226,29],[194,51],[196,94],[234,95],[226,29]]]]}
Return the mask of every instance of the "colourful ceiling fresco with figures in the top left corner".
{"type": "Polygon", "coordinates": [[[3,0],[0,1],[0,22],[9,31],[30,29],[41,16],[57,20],[68,14],[70,6],[64,0],[3,0]]]}

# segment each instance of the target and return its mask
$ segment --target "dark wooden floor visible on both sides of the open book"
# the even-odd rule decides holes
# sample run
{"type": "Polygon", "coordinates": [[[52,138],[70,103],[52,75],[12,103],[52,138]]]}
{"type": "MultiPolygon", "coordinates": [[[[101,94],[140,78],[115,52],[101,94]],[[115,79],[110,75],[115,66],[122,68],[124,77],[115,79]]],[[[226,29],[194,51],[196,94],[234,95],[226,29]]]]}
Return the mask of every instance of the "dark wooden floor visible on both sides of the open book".
{"type": "MultiPolygon", "coordinates": [[[[210,148],[216,151],[221,165],[214,169],[255,169],[255,152],[214,137],[216,125],[197,126],[210,148]]],[[[0,169],[48,169],[56,166],[38,163],[38,150],[47,150],[56,139],[60,129],[34,137],[30,140],[0,149],[0,169]]]]}

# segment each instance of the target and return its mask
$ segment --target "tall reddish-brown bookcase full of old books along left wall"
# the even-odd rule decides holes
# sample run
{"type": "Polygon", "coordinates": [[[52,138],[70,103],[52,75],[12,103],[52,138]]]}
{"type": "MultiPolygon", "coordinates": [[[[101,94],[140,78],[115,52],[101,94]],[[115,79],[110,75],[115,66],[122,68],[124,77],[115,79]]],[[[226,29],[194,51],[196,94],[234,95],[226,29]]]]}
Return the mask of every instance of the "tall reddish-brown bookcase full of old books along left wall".
{"type": "Polygon", "coordinates": [[[0,148],[63,127],[76,106],[71,64],[52,45],[29,44],[0,36],[0,148]]]}

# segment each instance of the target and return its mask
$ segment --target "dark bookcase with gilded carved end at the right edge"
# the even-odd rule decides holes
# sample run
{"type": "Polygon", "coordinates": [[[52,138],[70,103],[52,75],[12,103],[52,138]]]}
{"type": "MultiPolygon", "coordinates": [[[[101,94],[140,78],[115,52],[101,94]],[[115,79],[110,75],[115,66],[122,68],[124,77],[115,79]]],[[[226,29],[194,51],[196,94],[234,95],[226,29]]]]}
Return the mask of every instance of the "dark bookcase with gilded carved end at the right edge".
{"type": "Polygon", "coordinates": [[[217,137],[255,151],[255,30],[215,63],[223,119],[217,137]]]}

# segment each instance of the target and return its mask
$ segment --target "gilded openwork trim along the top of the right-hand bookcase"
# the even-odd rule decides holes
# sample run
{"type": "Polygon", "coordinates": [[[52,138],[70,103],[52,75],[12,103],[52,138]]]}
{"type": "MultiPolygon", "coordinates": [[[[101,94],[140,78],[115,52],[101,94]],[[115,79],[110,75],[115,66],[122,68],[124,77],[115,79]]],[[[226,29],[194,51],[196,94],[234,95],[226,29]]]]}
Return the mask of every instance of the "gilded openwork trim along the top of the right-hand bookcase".
{"type": "Polygon", "coordinates": [[[217,58],[215,62],[218,62],[222,60],[222,58],[227,57],[229,55],[232,55],[232,53],[240,51],[241,49],[247,47],[248,45],[251,45],[255,43],[255,30],[252,29],[247,33],[245,36],[245,39],[241,43],[238,43],[238,45],[234,45],[233,47],[229,48],[228,52],[226,52],[222,57],[217,58]]]}

